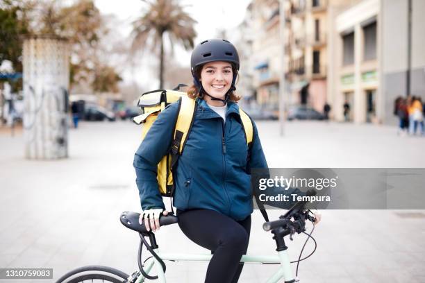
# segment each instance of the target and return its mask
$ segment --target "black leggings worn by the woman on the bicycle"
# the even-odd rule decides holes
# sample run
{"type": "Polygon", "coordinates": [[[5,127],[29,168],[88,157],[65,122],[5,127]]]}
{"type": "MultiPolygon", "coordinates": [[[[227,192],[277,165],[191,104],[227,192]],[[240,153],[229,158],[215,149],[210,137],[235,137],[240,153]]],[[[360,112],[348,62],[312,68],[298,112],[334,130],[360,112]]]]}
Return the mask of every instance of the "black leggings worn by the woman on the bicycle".
{"type": "Polygon", "coordinates": [[[251,216],[242,221],[209,209],[177,209],[178,225],[183,233],[203,248],[213,252],[208,264],[206,283],[236,283],[247,253],[251,216]]]}

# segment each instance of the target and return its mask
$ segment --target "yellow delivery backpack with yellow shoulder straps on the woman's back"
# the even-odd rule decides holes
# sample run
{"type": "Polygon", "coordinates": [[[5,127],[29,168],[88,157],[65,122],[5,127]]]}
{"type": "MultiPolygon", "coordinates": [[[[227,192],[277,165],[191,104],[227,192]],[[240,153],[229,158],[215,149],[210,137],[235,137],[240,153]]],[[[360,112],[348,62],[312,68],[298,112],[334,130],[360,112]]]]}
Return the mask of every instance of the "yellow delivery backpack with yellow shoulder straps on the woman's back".
{"type": "MultiPolygon", "coordinates": [[[[173,196],[173,172],[178,156],[183,153],[185,141],[188,138],[197,103],[189,98],[185,92],[178,92],[169,89],[157,89],[151,92],[145,92],[140,96],[138,106],[142,108],[142,115],[134,117],[133,121],[142,127],[142,140],[156,121],[158,114],[170,103],[178,101],[178,117],[174,128],[174,139],[172,148],[167,155],[158,163],[157,180],[159,190],[162,196],[173,196]]],[[[245,136],[247,137],[248,148],[251,148],[253,139],[253,126],[248,115],[239,108],[240,118],[242,120],[245,136]]]]}

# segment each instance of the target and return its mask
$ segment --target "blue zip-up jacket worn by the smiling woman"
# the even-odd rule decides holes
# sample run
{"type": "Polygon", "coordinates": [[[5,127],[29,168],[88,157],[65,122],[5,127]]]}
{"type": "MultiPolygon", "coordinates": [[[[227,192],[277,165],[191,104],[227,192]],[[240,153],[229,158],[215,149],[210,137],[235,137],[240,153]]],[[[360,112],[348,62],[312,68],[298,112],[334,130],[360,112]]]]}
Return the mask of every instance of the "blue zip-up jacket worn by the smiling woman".
{"type": "MultiPolygon", "coordinates": [[[[134,157],[142,209],[165,208],[156,180],[157,164],[172,143],[178,103],[167,106],[153,123],[134,157]]],[[[178,159],[174,206],[213,209],[240,221],[253,212],[251,168],[267,168],[258,131],[253,123],[249,164],[248,146],[236,103],[228,102],[226,123],[198,99],[192,130],[178,159]]]]}

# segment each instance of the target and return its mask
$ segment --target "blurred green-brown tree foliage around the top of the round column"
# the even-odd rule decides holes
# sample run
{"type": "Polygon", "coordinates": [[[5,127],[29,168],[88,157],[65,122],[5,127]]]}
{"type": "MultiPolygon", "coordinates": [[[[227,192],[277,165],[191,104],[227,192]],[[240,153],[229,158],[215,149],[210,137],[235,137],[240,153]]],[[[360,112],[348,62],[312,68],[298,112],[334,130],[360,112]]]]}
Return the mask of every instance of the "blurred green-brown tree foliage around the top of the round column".
{"type": "Polygon", "coordinates": [[[108,91],[116,92],[121,78],[101,54],[101,38],[106,33],[108,30],[93,0],[78,0],[71,6],[62,6],[60,1],[54,0],[2,0],[0,64],[2,60],[10,60],[15,71],[22,71],[22,35],[65,37],[72,46],[69,87],[72,89],[76,83],[84,81],[92,89],[99,90],[99,81],[103,78],[96,76],[108,74],[111,81],[100,85],[110,87],[108,91]]]}

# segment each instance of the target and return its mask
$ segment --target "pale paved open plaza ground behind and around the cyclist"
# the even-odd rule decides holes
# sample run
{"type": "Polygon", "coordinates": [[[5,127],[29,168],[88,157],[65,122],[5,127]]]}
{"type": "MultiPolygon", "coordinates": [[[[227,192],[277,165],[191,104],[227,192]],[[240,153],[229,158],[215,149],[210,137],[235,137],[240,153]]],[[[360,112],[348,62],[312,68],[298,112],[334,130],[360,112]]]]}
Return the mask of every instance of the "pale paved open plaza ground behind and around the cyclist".
{"type": "MultiPolygon", "coordinates": [[[[425,167],[425,138],[398,137],[395,127],[292,122],[283,138],[277,122],[258,129],[270,167],[425,167]]],[[[140,211],[132,166],[140,128],[128,121],[81,123],[69,135],[67,160],[36,161],[24,159],[22,135],[0,134],[0,268],[53,268],[55,279],[89,264],[133,273],[139,238],[119,214],[140,211]]],[[[322,212],[313,234],[317,251],[299,266],[301,282],[425,282],[425,212],[414,212],[322,212]]],[[[262,224],[254,212],[248,252],[274,254],[262,224]]],[[[157,234],[167,252],[207,252],[176,225],[157,234]]],[[[292,260],[303,241],[302,235],[288,241],[292,260]]],[[[312,248],[308,243],[304,255],[312,248]]],[[[167,282],[203,282],[206,267],[169,262],[167,282]]],[[[265,282],[275,270],[247,264],[240,282],[265,282]]]]}

